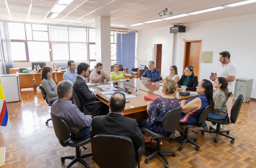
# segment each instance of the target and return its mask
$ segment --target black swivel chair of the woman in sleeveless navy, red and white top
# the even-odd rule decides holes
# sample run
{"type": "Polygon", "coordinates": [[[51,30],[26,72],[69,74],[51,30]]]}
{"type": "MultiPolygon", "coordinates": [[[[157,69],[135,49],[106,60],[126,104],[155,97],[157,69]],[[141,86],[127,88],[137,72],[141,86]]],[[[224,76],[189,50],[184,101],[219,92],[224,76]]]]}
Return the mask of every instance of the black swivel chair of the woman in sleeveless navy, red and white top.
{"type": "Polygon", "coordinates": [[[204,109],[198,115],[198,123],[196,123],[194,125],[187,125],[187,124],[180,123],[181,126],[186,127],[185,134],[181,134],[181,137],[170,138],[169,142],[171,142],[172,140],[182,141],[181,146],[178,149],[179,151],[182,151],[185,143],[187,143],[187,142],[195,145],[196,146],[195,150],[198,151],[200,146],[197,143],[195,143],[197,141],[197,137],[188,137],[189,128],[201,127],[201,125],[203,125],[205,119],[207,118],[210,110],[211,110],[211,105],[204,107],[204,109]]]}

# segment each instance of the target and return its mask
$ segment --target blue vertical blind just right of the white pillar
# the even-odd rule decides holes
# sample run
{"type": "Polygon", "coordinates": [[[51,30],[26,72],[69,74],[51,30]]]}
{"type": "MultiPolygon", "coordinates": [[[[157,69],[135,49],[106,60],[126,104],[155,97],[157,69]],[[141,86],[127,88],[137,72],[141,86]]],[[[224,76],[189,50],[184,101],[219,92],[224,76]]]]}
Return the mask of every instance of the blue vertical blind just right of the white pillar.
{"type": "Polygon", "coordinates": [[[135,64],[135,41],[136,33],[117,34],[117,63],[128,68],[131,73],[131,67],[135,64]]]}

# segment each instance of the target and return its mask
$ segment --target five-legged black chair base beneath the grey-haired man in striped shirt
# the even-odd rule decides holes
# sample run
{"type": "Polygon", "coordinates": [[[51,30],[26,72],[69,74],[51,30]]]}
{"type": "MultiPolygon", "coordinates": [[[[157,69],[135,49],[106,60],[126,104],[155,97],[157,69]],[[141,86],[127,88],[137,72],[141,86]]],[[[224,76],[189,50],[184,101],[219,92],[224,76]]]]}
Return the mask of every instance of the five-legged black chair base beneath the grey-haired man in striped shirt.
{"type": "Polygon", "coordinates": [[[86,163],[86,161],[84,161],[84,158],[88,158],[92,156],[92,153],[89,154],[84,154],[84,155],[80,155],[80,148],[76,147],[76,156],[75,155],[70,155],[70,156],[61,156],[61,161],[64,162],[65,159],[72,159],[72,161],[65,167],[65,168],[69,168],[71,167],[73,164],[75,164],[76,162],[80,162],[81,164],[83,164],[86,168],[89,168],[89,165],[86,163]]]}

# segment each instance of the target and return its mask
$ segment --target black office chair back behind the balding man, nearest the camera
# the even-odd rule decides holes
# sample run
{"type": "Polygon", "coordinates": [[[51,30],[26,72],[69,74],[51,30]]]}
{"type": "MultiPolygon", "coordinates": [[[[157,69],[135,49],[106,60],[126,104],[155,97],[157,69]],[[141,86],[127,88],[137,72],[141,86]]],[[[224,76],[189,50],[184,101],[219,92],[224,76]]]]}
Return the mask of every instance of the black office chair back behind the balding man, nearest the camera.
{"type": "Polygon", "coordinates": [[[141,147],[135,152],[133,141],[129,137],[98,134],[92,137],[91,146],[93,160],[100,168],[140,167],[141,147]]]}

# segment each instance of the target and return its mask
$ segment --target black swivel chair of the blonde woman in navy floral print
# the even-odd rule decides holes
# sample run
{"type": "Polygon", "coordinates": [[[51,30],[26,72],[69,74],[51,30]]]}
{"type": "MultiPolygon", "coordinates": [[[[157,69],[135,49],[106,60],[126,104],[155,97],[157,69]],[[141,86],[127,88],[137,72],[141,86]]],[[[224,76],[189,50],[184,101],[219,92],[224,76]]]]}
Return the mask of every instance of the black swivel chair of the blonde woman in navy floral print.
{"type": "MultiPolygon", "coordinates": [[[[164,115],[164,119],[162,121],[162,126],[164,128],[165,131],[170,132],[171,135],[168,137],[171,137],[175,130],[178,128],[179,126],[179,122],[180,122],[180,114],[181,114],[181,109],[182,107],[177,107],[174,108],[172,110],[169,110],[165,115],[164,115]]],[[[146,127],[142,127],[142,131],[145,132],[146,134],[157,138],[157,148],[149,148],[146,147],[146,149],[153,151],[150,155],[148,155],[148,157],[145,159],[145,164],[148,163],[148,160],[153,158],[156,155],[159,155],[164,162],[166,163],[165,168],[169,167],[169,162],[168,160],[165,158],[164,153],[171,153],[173,154],[173,156],[176,156],[176,153],[174,151],[171,150],[165,150],[165,149],[160,149],[161,145],[161,138],[164,138],[165,136],[159,133],[156,133],[154,131],[151,131],[150,129],[146,128],[146,127]]]]}

